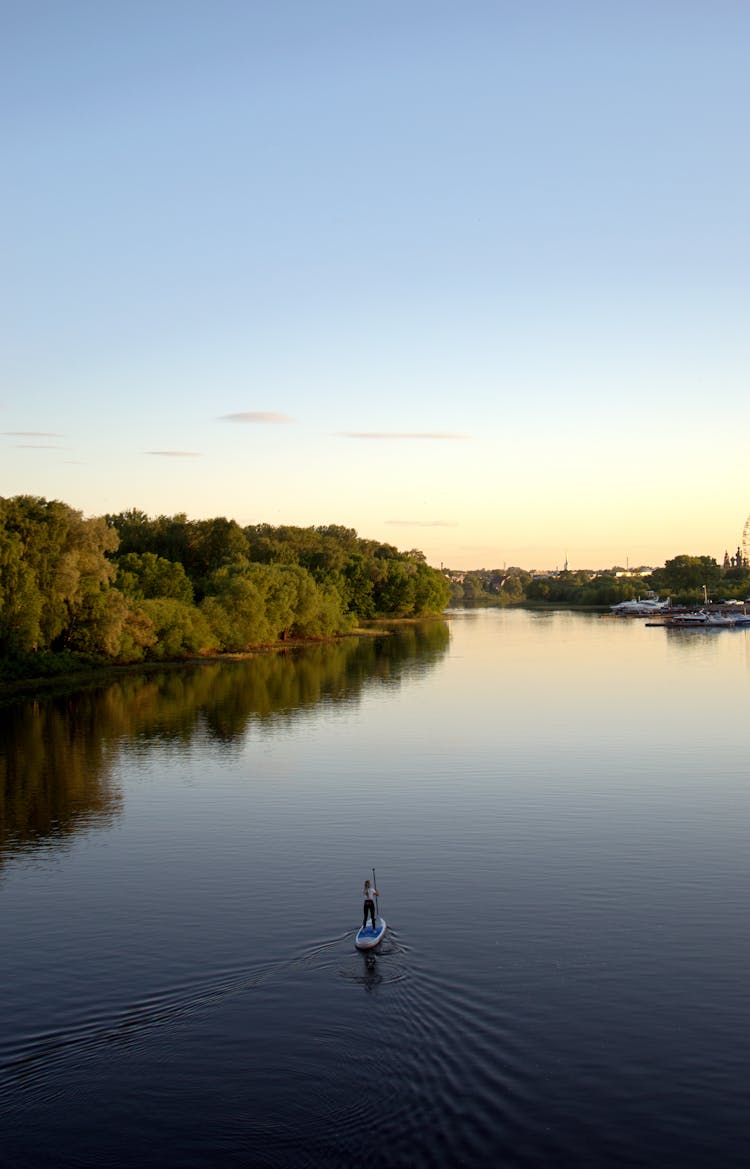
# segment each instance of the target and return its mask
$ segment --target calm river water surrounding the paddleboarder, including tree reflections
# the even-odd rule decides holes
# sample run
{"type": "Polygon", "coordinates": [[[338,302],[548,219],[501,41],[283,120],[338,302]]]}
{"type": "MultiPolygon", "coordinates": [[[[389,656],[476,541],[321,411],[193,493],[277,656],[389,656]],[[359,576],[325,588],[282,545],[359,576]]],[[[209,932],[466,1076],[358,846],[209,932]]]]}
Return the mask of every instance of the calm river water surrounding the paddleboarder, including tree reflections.
{"type": "Polygon", "coordinates": [[[5,707],[0,1164],[746,1165],[749,699],[488,610],[5,707]]]}

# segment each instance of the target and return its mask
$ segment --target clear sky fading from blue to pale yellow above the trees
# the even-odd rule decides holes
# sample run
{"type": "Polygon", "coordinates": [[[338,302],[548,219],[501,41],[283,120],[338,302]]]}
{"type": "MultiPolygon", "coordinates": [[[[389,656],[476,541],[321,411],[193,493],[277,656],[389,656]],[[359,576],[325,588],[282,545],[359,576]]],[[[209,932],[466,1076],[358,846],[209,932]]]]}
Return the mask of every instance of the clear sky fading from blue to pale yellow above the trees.
{"type": "Polygon", "coordinates": [[[746,0],[0,0],[0,496],[721,560],[749,50],[746,0]]]}

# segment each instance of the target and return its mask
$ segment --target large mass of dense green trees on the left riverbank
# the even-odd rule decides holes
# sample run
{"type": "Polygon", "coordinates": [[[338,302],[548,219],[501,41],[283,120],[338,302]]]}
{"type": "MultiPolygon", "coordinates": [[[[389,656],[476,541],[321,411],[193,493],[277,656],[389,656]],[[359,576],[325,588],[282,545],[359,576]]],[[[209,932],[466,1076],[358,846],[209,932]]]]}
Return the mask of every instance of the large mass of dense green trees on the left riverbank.
{"type": "Polygon", "coordinates": [[[347,527],[231,519],[84,518],[0,498],[0,672],[165,660],[346,634],[371,617],[439,614],[451,584],[417,549],[347,527]]]}

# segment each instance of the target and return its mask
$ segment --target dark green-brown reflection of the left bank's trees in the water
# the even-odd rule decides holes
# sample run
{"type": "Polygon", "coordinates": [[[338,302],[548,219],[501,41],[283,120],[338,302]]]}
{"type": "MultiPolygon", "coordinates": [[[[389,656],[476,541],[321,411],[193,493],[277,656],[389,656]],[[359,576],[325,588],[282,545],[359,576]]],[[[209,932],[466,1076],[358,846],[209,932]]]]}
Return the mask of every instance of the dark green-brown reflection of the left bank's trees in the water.
{"type": "Polygon", "coordinates": [[[443,621],[395,627],[237,662],[207,662],[0,708],[0,863],[4,852],[63,839],[120,810],[112,780],[121,750],[196,733],[239,740],[250,721],[286,725],[319,703],[359,701],[367,685],[394,685],[445,653],[443,621]]]}

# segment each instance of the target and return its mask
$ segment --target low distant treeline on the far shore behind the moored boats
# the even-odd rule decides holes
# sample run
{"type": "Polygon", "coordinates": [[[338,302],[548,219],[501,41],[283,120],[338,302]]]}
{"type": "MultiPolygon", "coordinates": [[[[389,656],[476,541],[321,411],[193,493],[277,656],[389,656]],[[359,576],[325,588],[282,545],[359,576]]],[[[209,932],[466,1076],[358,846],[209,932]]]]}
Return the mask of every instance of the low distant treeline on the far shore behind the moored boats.
{"type": "Polygon", "coordinates": [[[446,570],[453,603],[492,601],[494,604],[571,604],[606,607],[654,592],[675,604],[694,604],[706,597],[745,600],[750,593],[750,568],[737,549],[718,565],[713,556],[679,555],[664,568],[627,573],[621,568],[603,572],[529,573],[523,568],[446,570]]]}

